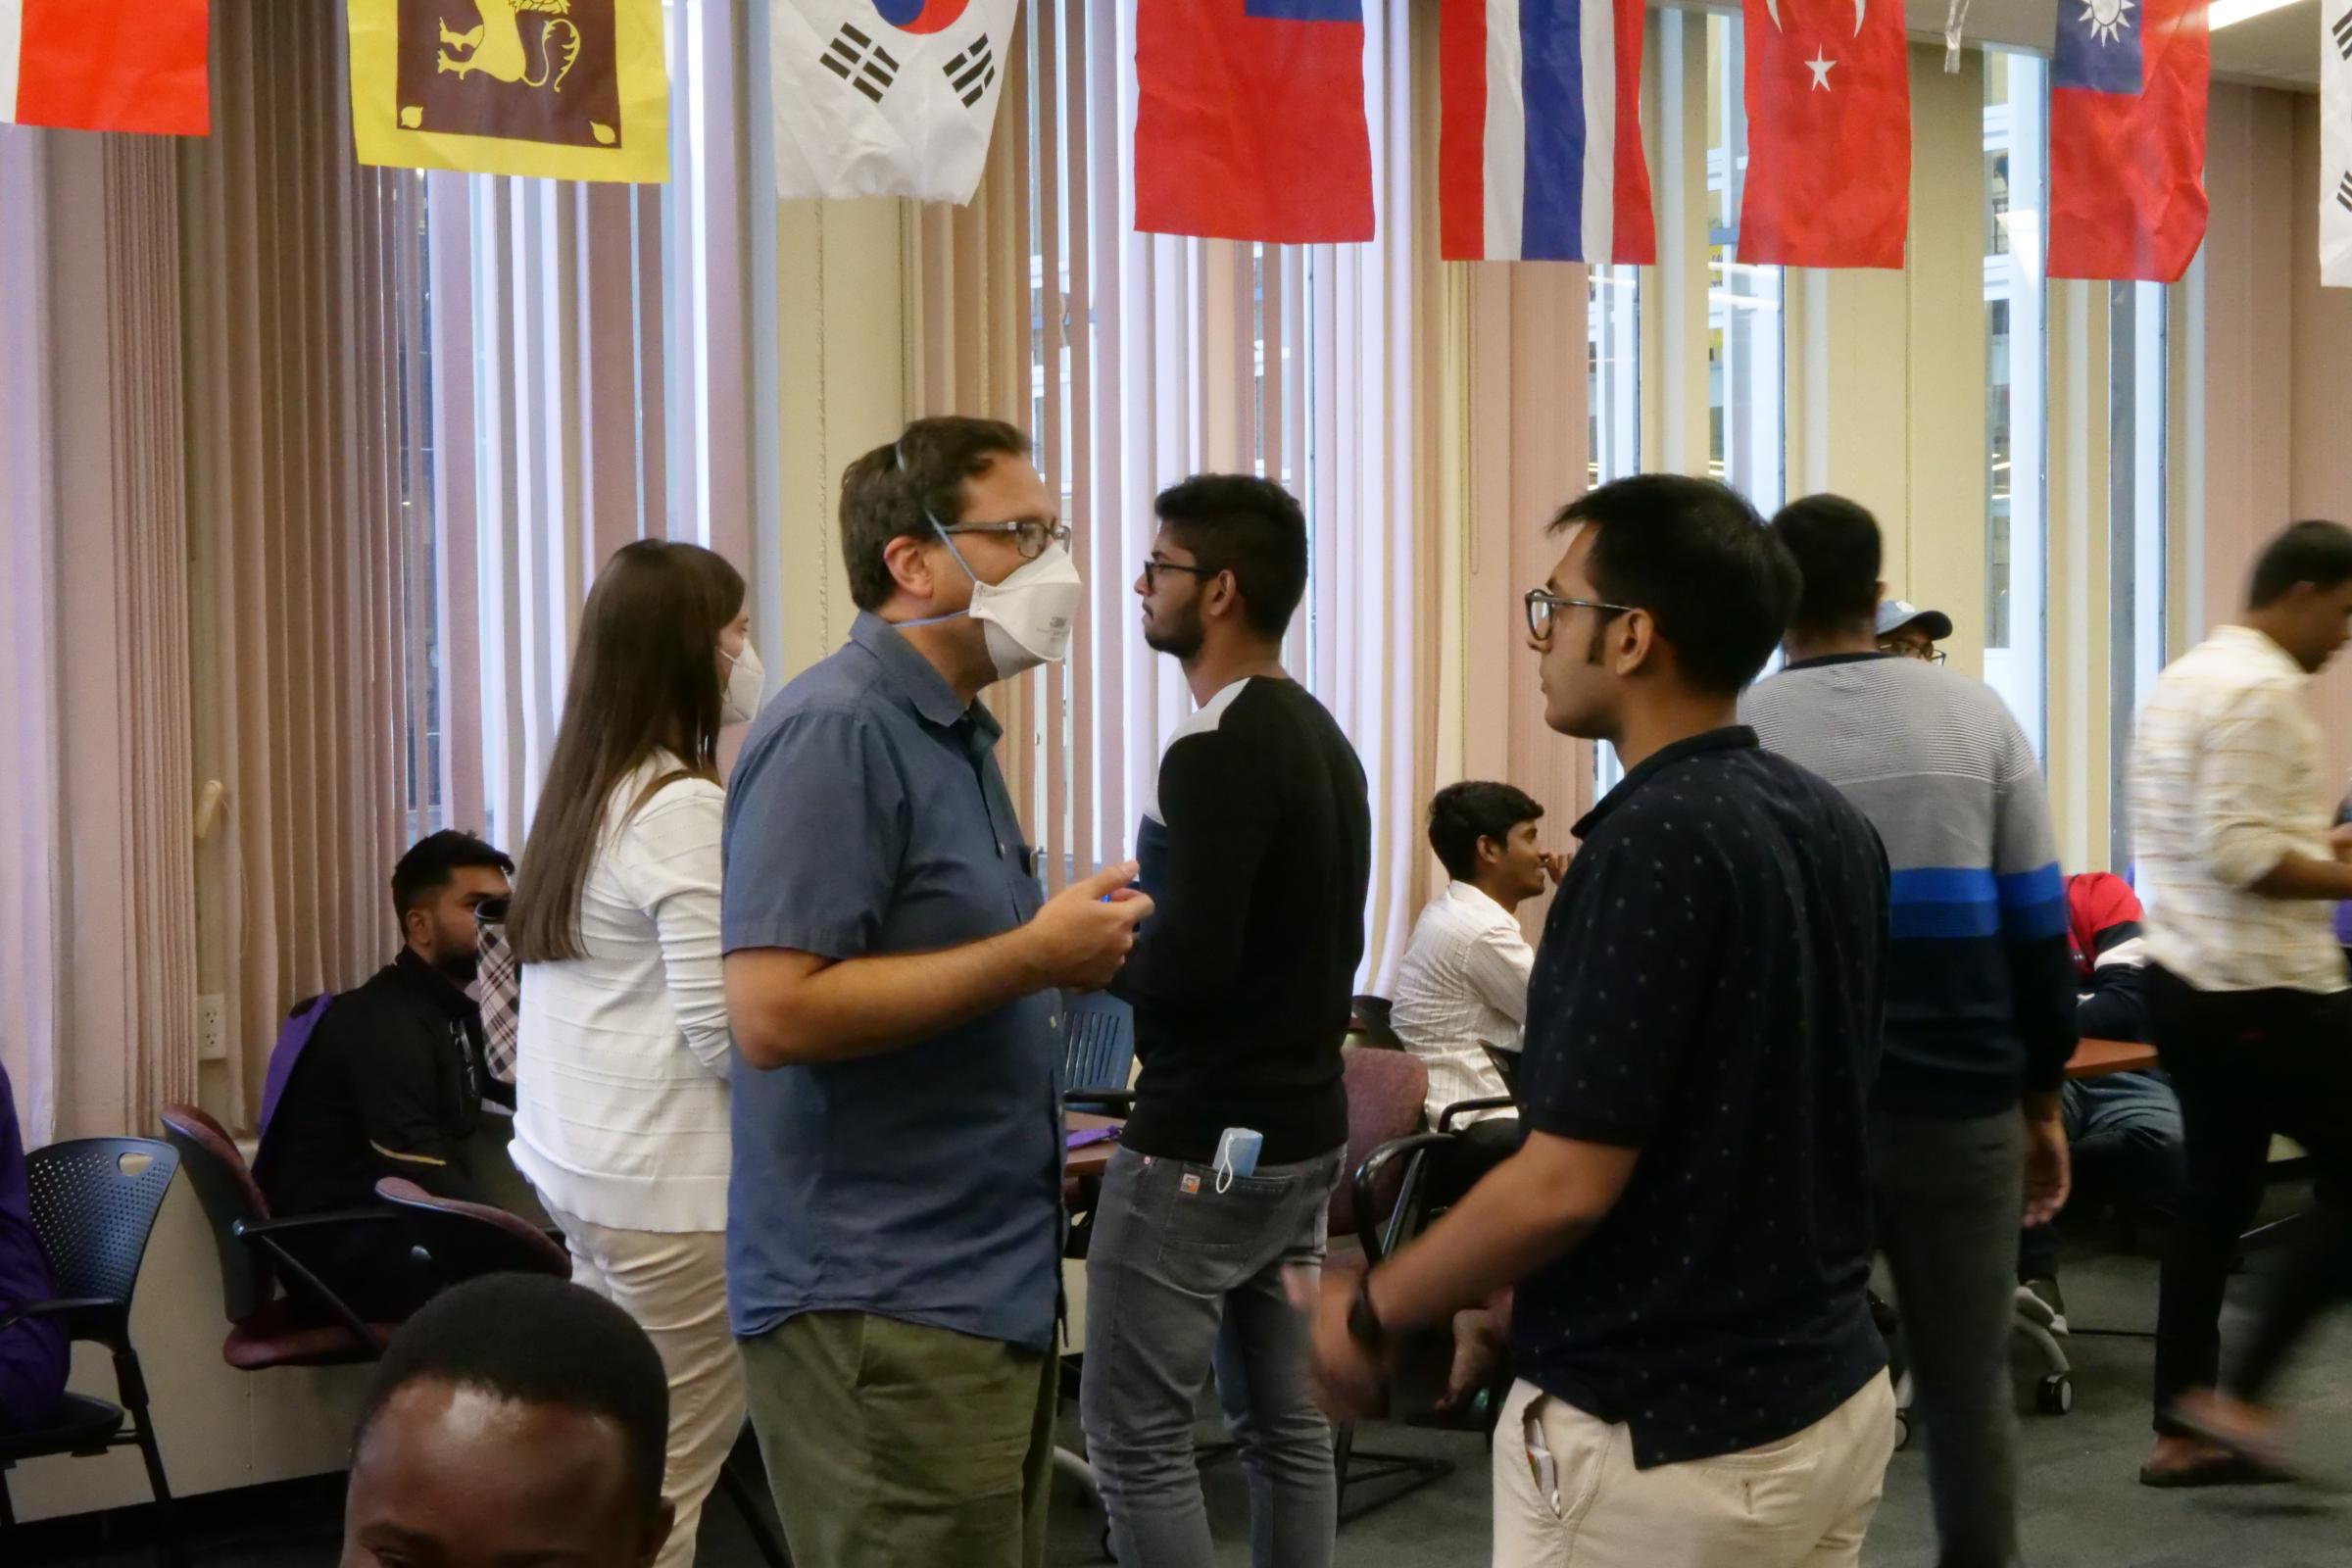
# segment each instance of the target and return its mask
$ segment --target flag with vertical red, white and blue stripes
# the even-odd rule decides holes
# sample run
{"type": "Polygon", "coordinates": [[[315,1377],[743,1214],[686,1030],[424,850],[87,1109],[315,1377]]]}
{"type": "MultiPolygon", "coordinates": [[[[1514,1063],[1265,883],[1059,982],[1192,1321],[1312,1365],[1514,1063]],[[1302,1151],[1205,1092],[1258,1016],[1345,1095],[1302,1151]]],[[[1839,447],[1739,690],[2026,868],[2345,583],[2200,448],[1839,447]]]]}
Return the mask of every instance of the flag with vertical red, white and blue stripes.
{"type": "Polygon", "coordinates": [[[1658,259],[1642,158],[1644,0],[1444,0],[1446,261],[1658,259]]]}

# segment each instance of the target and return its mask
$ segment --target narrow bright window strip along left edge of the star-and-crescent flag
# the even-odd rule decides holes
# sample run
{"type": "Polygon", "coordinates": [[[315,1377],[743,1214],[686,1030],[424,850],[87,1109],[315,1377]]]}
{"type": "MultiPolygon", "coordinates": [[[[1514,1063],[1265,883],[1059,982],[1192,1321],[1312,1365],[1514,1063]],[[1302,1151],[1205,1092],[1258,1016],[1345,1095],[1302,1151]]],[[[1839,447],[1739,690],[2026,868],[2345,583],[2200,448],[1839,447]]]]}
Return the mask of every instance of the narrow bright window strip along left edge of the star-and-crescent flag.
{"type": "Polygon", "coordinates": [[[1788,315],[1776,266],[1738,261],[1748,179],[1740,19],[1708,14],[1708,473],[1771,517],[1788,501],[1788,315]]]}

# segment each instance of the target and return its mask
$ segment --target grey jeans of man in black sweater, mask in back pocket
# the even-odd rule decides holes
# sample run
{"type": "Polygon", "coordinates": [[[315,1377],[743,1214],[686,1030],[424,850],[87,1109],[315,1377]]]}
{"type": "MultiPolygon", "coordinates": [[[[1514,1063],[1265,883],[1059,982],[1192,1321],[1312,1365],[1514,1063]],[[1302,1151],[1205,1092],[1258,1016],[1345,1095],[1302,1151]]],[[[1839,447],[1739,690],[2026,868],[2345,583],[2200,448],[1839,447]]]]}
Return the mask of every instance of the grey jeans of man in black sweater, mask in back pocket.
{"type": "Polygon", "coordinates": [[[1261,1166],[1225,1192],[1209,1166],[1110,1157],[1087,1248],[1080,1415],[1124,1568],[1216,1561],[1192,1460],[1211,1363],[1249,1474],[1251,1561],[1329,1568],[1331,1425],[1308,1389],[1308,1326],[1282,1274],[1322,1272],[1343,1154],[1261,1166]]]}

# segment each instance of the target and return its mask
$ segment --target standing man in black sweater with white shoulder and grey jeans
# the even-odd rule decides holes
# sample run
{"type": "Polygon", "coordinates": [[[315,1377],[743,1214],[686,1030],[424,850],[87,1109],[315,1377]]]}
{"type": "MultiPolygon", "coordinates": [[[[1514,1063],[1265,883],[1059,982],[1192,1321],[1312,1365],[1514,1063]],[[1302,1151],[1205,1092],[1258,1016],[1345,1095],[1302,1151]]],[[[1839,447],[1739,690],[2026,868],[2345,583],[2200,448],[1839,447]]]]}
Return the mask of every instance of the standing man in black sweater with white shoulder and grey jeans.
{"type": "Polygon", "coordinates": [[[1115,990],[1136,1006],[1136,1112],[1087,1260],[1087,1458],[1129,1568],[1207,1568],[1192,1396],[1216,1366],[1249,1469],[1254,1561],[1331,1561],[1331,1427],[1284,1269],[1317,1269],[1348,1145],[1341,1041],[1364,957],[1371,806],[1348,736],[1282,670],[1305,592],[1298,503],[1202,475],[1160,496],[1143,639],[1200,710],[1136,842],[1157,914],[1115,990]],[[1254,1157],[1221,1154],[1228,1131],[1254,1157]],[[1247,1138],[1240,1138],[1247,1145],[1247,1138]]]}

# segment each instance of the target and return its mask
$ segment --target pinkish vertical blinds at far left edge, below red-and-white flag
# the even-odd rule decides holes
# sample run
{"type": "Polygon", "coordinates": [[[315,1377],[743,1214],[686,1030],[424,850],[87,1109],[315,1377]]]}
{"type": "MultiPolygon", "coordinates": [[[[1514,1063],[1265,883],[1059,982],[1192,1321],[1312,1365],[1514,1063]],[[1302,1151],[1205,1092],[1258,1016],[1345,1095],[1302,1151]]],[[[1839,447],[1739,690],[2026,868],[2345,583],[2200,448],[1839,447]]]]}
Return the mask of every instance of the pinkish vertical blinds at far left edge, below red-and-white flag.
{"type": "Polygon", "coordinates": [[[195,1086],[172,146],[0,129],[0,1051],[35,1143],[195,1086]]]}

